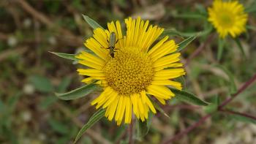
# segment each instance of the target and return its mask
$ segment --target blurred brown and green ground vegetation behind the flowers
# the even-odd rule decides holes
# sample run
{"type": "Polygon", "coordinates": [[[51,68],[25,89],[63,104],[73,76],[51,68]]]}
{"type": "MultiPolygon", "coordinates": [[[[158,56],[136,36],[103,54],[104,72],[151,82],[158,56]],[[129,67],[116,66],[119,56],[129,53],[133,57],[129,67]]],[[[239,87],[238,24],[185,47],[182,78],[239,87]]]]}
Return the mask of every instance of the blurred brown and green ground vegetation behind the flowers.
{"type": "MultiPolygon", "coordinates": [[[[54,92],[70,91],[82,86],[72,61],[49,51],[78,53],[92,29],[81,14],[89,15],[101,26],[128,16],[148,19],[165,29],[190,34],[203,31],[206,22],[200,18],[181,18],[206,12],[203,7],[212,1],[203,0],[1,0],[0,1],[0,143],[72,143],[83,124],[95,112],[90,106],[97,92],[81,99],[62,101],[54,92]]],[[[254,0],[242,1],[250,6],[254,0]]],[[[255,5],[256,7],[256,5],[255,5]]],[[[249,14],[250,26],[256,26],[255,13],[249,14]]],[[[199,56],[186,67],[184,89],[201,99],[213,101],[230,96],[230,83],[225,72],[213,64],[226,67],[241,86],[256,72],[255,29],[241,35],[245,56],[233,40],[228,39],[222,60],[217,61],[217,34],[199,56]]],[[[171,37],[176,42],[181,37],[171,37]]],[[[183,61],[204,42],[198,37],[182,52],[183,61]]],[[[229,107],[256,115],[256,86],[246,89],[229,107]]],[[[143,140],[135,143],[161,143],[194,124],[208,113],[177,99],[163,107],[170,115],[158,113],[143,140]]],[[[116,126],[103,118],[89,129],[79,143],[127,143],[127,126],[116,126]]],[[[175,143],[256,143],[255,121],[225,113],[216,113],[206,123],[175,143]]]]}

